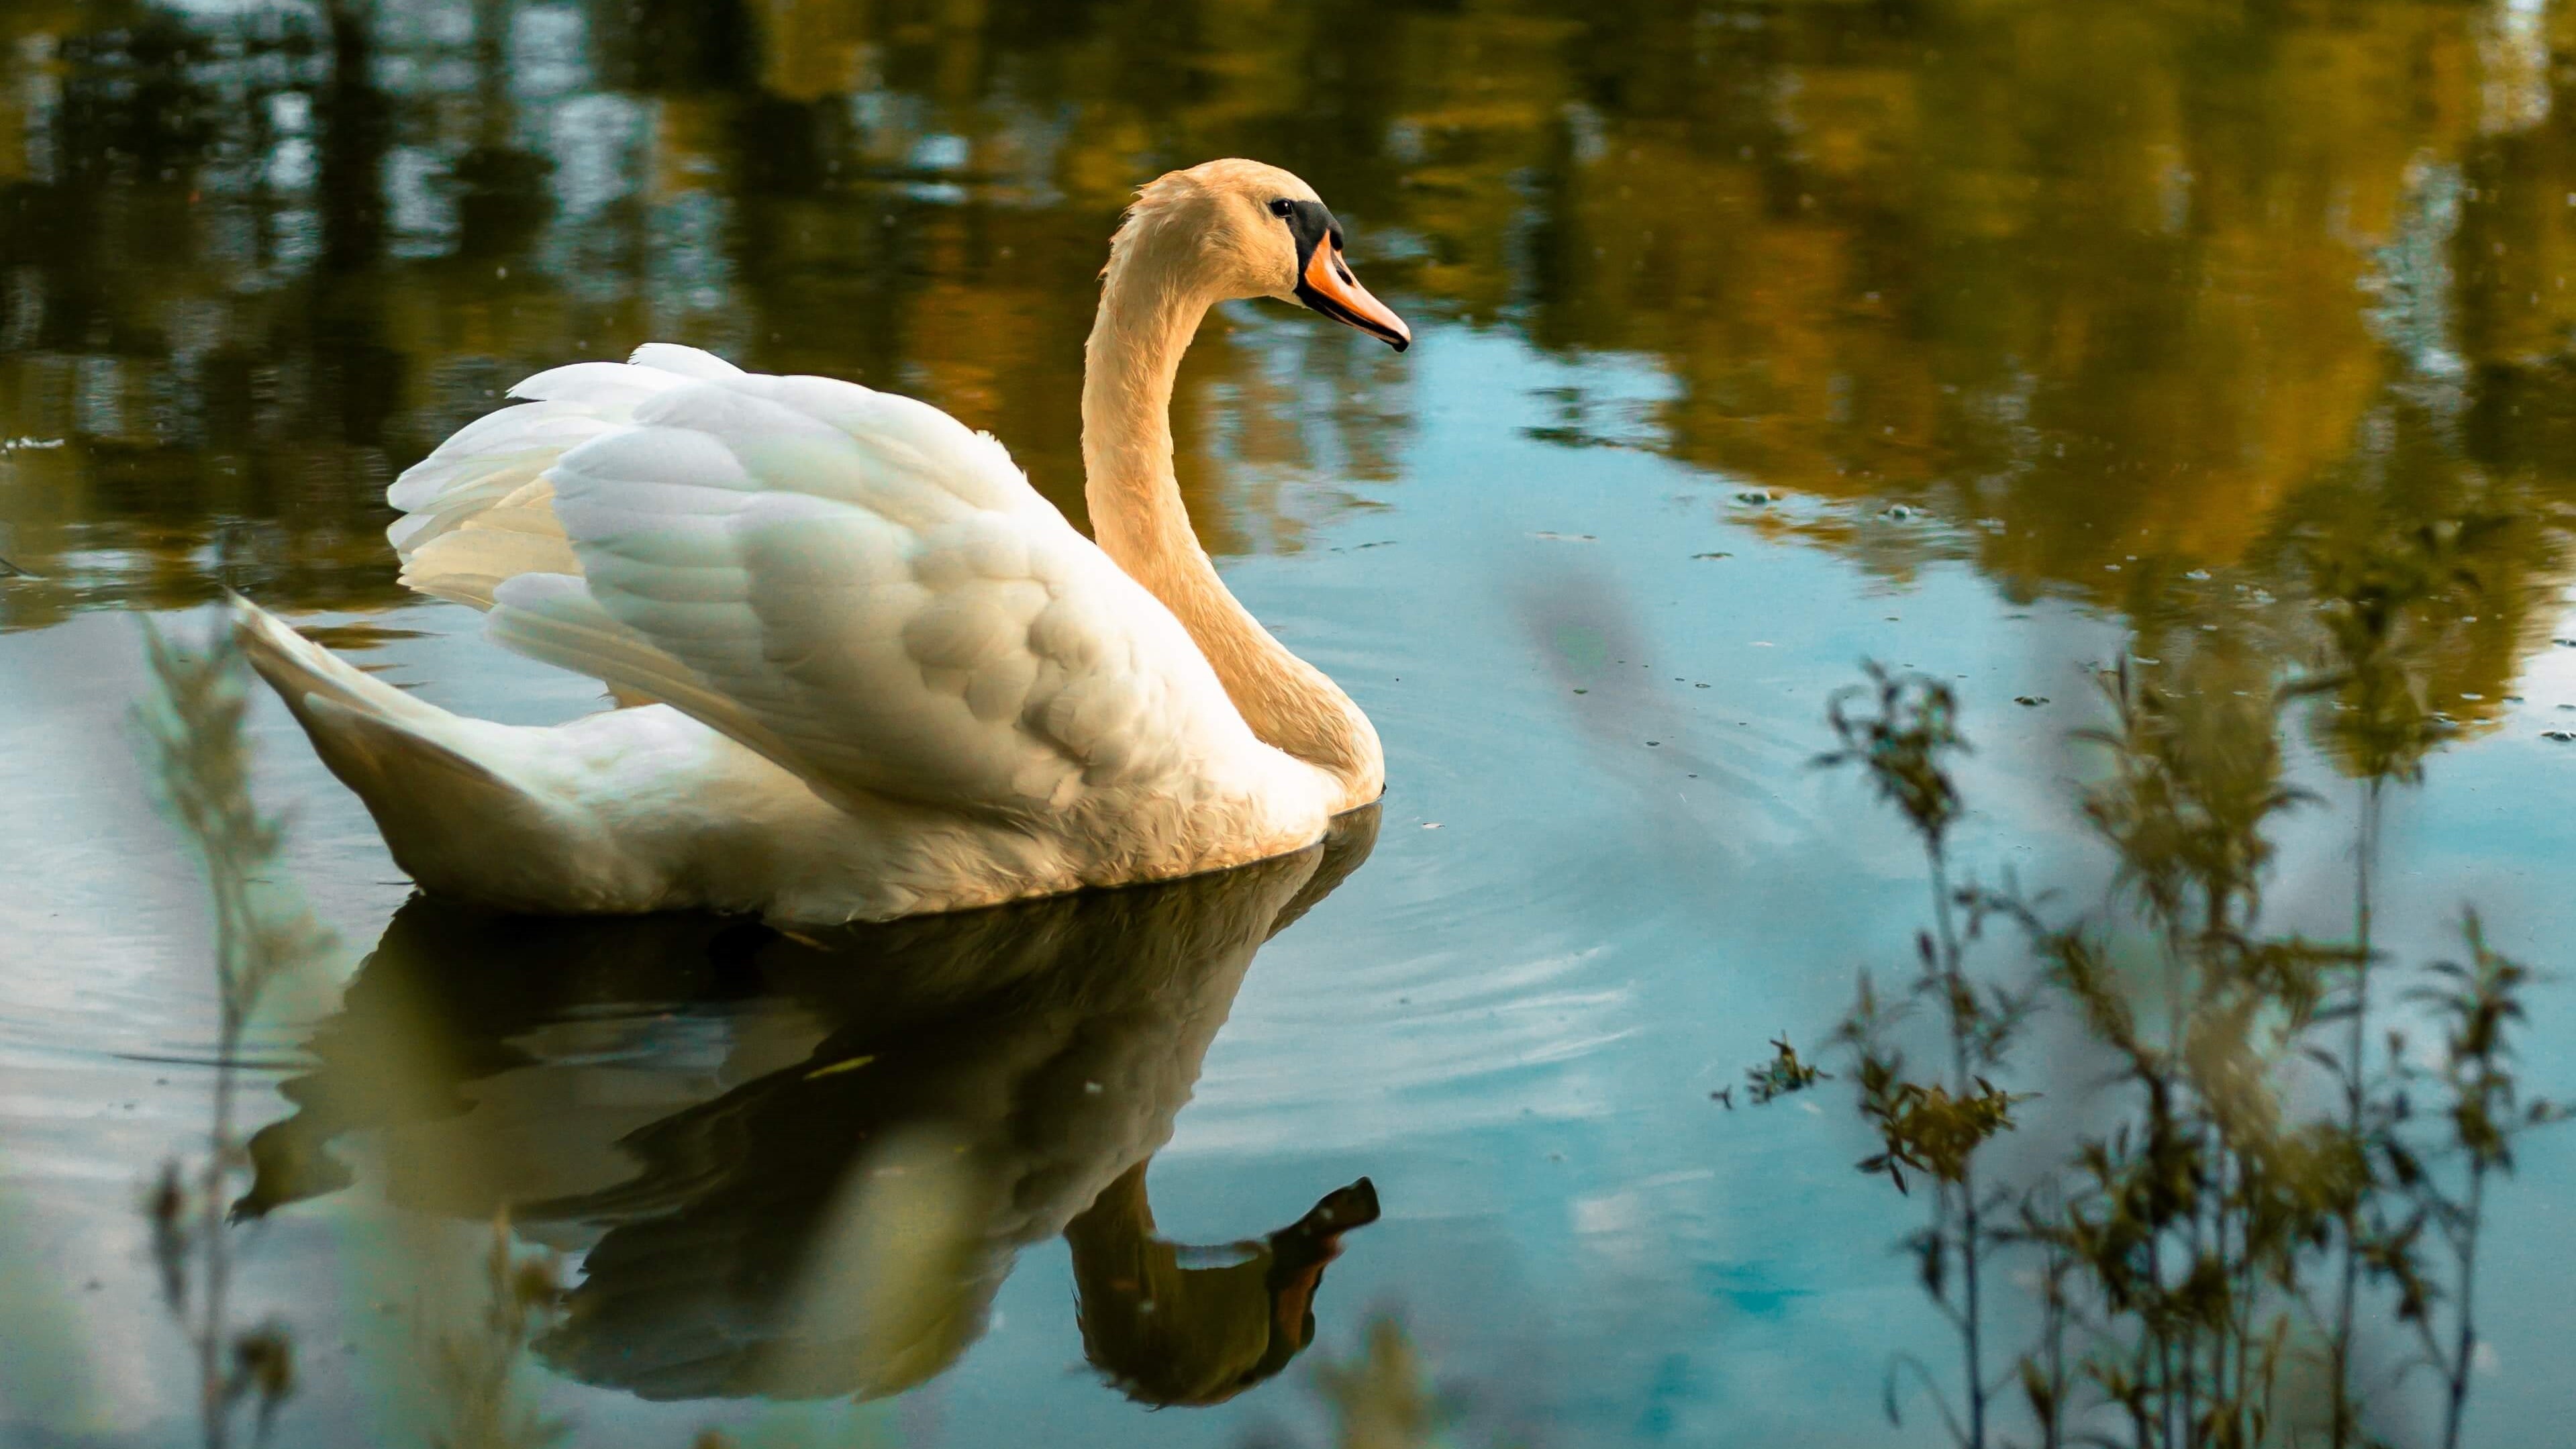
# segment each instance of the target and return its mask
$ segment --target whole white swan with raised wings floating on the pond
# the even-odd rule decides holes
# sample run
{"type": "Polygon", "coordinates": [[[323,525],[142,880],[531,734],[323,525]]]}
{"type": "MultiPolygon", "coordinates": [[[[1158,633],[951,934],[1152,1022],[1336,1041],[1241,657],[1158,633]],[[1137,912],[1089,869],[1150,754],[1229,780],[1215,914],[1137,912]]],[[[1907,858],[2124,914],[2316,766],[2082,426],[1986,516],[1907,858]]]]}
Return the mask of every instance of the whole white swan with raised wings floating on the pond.
{"type": "Polygon", "coordinates": [[[1172,373],[1224,299],[1412,335],[1260,162],[1146,185],[1103,275],[1097,546],[935,407],[649,345],[518,383],[389,497],[410,587],[657,703],[497,726],[247,600],[234,633],[412,880],[500,909],[889,919],[1301,849],[1378,798],[1378,734],[1200,551],[1172,373]]]}

